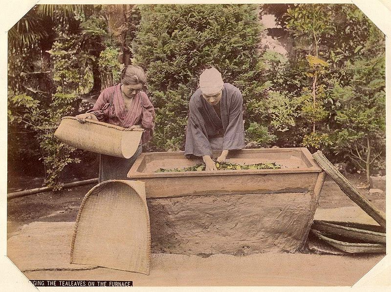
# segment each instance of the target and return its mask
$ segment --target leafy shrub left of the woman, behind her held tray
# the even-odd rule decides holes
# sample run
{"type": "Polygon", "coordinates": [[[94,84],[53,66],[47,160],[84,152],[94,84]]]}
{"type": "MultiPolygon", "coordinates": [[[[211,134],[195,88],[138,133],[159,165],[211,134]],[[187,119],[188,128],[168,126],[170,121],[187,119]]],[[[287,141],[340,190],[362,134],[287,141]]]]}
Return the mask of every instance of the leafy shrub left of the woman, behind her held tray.
{"type": "Polygon", "coordinates": [[[63,169],[80,159],[72,155],[72,147],[60,143],[54,132],[64,116],[77,113],[81,100],[78,94],[86,93],[92,87],[93,57],[77,52],[71,38],[54,43],[49,51],[53,62],[53,83],[56,93],[38,100],[27,94],[8,95],[8,121],[10,125],[22,125],[34,133],[38,141],[40,160],[45,170],[45,185],[60,189],[63,185],[63,169]]]}

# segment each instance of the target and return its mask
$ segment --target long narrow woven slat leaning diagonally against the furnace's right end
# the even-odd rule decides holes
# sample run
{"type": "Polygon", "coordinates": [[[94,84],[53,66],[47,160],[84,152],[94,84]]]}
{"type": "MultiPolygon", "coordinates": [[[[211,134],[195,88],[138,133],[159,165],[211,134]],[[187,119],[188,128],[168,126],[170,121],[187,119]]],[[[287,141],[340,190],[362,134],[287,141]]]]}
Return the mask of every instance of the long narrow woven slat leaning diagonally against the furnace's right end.
{"type": "Polygon", "coordinates": [[[342,174],[335,168],[321,151],[313,154],[314,159],[326,173],[337,183],[341,190],[369,216],[371,216],[380,226],[386,228],[386,215],[377,209],[369,200],[363,196],[342,174]]]}

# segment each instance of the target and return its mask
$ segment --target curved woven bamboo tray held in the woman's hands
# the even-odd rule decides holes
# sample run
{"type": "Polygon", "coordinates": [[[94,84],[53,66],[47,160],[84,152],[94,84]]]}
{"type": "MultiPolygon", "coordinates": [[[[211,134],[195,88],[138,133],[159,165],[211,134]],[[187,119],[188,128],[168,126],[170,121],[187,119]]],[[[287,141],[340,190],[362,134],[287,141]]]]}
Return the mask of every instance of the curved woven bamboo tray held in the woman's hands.
{"type": "Polygon", "coordinates": [[[75,148],[130,158],[140,144],[142,132],[90,119],[82,124],[75,117],[64,117],[54,135],[75,148]]]}

